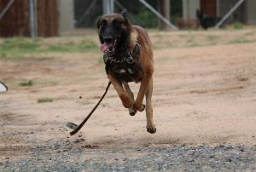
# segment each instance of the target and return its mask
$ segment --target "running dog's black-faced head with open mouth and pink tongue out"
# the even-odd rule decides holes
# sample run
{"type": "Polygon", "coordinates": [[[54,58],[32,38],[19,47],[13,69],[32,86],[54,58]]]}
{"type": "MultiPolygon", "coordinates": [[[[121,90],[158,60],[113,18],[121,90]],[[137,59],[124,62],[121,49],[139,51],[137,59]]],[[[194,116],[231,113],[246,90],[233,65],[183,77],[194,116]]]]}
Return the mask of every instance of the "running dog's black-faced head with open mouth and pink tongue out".
{"type": "Polygon", "coordinates": [[[100,17],[96,22],[101,50],[114,50],[120,44],[125,43],[131,32],[131,23],[126,17],[126,10],[120,14],[106,14],[100,17]]]}

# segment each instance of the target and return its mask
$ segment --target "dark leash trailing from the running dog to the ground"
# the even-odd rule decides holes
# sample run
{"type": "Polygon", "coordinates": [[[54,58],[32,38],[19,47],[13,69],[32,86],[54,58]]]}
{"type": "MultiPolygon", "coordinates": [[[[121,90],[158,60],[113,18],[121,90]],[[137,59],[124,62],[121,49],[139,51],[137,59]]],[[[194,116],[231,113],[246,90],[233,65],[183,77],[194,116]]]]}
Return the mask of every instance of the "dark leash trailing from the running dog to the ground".
{"type": "Polygon", "coordinates": [[[108,82],[108,86],[106,88],[105,93],[102,95],[102,98],[99,100],[99,102],[96,104],[96,106],[91,110],[91,112],[88,114],[88,116],[84,119],[84,121],[82,123],[79,124],[79,126],[75,123],[67,123],[67,127],[73,129],[72,132],[70,132],[70,135],[74,135],[77,132],[79,132],[79,130],[84,126],[84,123],[86,123],[86,121],[90,118],[90,116],[92,115],[92,113],[96,110],[96,108],[100,105],[100,103],[102,102],[102,100],[104,99],[105,95],[108,93],[108,89],[109,86],[111,85],[111,82],[108,82]]]}

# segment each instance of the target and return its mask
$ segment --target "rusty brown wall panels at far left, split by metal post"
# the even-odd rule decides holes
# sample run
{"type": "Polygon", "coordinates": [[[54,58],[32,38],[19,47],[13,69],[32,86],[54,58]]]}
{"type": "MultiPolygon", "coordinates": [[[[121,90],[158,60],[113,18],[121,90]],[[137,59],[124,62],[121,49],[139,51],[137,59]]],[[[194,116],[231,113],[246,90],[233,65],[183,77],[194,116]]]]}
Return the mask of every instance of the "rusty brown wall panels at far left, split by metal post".
{"type": "MultiPolygon", "coordinates": [[[[37,28],[39,37],[58,35],[57,0],[40,0],[37,2],[37,28]]],[[[62,0],[61,0],[62,1],[62,0]]],[[[0,0],[0,12],[9,0],[0,0]]],[[[30,37],[30,1],[15,1],[0,20],[0,37],[30,37]]]]}

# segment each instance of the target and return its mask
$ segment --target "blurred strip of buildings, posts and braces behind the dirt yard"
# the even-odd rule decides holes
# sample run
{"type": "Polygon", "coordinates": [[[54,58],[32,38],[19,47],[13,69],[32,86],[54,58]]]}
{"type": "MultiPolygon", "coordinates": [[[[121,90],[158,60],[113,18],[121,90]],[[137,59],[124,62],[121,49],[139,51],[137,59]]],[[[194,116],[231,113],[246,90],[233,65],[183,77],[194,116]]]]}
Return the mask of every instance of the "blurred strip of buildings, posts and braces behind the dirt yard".
{"type": "Polygon", "coordinates": [[[255,0],[1,0],[0,37],[73,33],[124,8],[133,24],[160,30],[256,23],[255,0]]]}

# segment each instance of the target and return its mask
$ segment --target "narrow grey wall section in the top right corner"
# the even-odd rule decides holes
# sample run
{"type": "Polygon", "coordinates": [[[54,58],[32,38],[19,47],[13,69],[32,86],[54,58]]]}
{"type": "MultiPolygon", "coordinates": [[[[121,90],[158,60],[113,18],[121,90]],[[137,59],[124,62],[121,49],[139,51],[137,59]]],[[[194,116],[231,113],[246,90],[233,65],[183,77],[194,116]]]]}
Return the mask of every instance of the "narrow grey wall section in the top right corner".
{"type": "Polygon", "coordinates": [[[256,24],[256,0],[246,0],[246,22],[256,24]]]}

